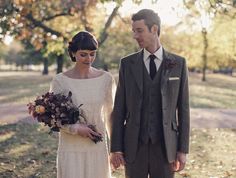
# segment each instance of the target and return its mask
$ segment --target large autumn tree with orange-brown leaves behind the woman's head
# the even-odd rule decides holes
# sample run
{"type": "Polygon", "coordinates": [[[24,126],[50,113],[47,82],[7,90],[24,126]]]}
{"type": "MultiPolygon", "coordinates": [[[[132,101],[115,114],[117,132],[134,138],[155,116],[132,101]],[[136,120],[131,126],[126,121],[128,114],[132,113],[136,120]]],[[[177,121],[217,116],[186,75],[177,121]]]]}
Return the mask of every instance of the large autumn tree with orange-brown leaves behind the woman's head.
{"type": "MultiPolygon", "coordinates": [[[[108,1],[108,0],[107,0],[108,1]]],[[[0,13],[1,35],[15,36],[18,40],[27,39],[35,46],[36,50],[43,49],[46,55],[50,53],[58,56],[57,72],[62,71],[63,55],[65,46],[70,37],[79,30],[94,32],[96,23],[91,23],[96,19],[93,8],[97,3],[104,3],[105,0],[55,0],[55,1],[33,1],[17,0],[3,1],[0,13]],[[69,3],[70,2],[70,3],[69,3]],[[5,9],[5,10],[3,10],[5,9]],[[66,28],[65,28],[66,27],[66,28]],[[56,45],[55,48],[50,48],[56,45]]],[[[117,1],[115,8],[107,18],[101,29],[96,30],[99,44],[106,40],[112,20],[116,16],[122,1],[117,1]]]]}

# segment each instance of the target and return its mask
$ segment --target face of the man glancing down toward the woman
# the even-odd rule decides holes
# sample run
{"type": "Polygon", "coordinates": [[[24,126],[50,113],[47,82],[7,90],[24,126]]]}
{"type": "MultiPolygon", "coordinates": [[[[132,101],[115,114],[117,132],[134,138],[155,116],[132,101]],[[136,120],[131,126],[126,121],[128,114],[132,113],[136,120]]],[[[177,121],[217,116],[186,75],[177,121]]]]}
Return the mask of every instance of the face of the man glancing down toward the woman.
{"type": "Polygon", "coordinates": [[[133,21],[132,23],[133,38],[138,42],[140,48],[148,49],[153,45],[154,36],[149,31],[144,20],[133,21]]]}

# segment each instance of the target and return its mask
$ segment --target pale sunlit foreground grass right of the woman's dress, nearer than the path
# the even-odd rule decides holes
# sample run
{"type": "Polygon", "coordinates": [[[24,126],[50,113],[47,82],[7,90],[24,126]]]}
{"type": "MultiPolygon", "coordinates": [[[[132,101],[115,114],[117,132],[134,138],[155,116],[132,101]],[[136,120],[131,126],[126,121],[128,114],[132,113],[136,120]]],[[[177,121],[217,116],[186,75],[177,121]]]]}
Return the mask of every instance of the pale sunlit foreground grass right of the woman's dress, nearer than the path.
{"type": "MultiPolygon", "coordinates": [[[[236,129],[192,129],[190,154],[176,178],[236,177],[236,129]]],[[[116,172],[124,178],[123,170],[116,172]]]]}

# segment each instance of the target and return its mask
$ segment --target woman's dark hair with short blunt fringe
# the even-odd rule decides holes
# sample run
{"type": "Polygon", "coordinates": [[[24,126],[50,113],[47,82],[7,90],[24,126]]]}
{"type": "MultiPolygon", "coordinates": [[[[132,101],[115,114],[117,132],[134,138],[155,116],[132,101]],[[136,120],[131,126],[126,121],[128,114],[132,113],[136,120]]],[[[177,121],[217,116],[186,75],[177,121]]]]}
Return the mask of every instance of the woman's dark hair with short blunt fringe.
{"type": "Polygon", "coordinates": [[[68,52],[70,58],[73,62],[76,61],[73,53],[76,53],[78,50],[97,50],[98,42],[96,38],[87,31],[81,31],[77,33],[72,41],[69,42],[68,52]]]}

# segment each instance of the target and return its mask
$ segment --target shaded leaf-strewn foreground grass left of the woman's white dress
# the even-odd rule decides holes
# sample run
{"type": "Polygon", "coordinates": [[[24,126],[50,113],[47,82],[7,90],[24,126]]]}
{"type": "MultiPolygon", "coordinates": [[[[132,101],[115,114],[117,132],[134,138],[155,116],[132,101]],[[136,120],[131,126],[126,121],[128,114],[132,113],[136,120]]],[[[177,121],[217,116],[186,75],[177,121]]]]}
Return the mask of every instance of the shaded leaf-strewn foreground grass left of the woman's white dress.
{"type": "Polygon", "coordinates": [[[39,125],[0,126],[0,177],[56,177],[57,136],[39,125]]]}

